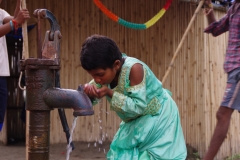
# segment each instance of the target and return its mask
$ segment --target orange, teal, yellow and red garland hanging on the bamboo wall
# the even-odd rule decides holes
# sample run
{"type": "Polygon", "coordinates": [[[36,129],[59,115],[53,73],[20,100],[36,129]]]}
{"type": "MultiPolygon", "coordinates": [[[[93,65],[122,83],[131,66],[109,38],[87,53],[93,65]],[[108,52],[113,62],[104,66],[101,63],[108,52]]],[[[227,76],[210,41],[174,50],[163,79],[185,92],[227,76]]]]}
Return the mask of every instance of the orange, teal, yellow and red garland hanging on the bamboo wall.
{"type": "Polygon", "coordinates": [[[113,21],[127,27],[127,28],[131,28],[131,29],[147,29],[149,27],[151,27],[152,25],[154,25],[163,15],[164,13],[168,10],[168,8],[170,7],[172,0],[167,0],[166,4],[164,5],[164,7],[154,16],[152,17],[152,19],[150,19],[149,21],[147,21],[144,24],[138,24],[138,23],[132,23],[132,22],[128,22],[125,21],[124,19],[116,16],[114,13],[112,13],[111,11],[109,11],[101,2],[100,0],[94,0],[94,3],[96,4],[96,6],[98,6],[98,8],[106,15],[108,16],[110,19],[112,19],[113,21]]]}

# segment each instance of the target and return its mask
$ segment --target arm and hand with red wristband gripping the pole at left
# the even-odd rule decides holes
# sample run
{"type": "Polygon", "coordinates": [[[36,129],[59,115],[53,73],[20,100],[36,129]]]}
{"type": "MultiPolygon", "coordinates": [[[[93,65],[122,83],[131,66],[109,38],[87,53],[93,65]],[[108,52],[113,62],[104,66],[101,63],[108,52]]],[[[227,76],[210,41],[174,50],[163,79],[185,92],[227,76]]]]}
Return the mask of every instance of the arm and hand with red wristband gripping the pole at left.
{"type": "MultiPolygon", "coordinates": [[[[26,19],[29,19],[29,12],[27,9],[20,10],[21,0],[17,0],[16,9],[13,16],[7,16],[3,19],[3,25],[0,26],[0,37],[6,35],[12,30],[12,26],[10,24],[11,20],[15,20],[18,25],[21,25],[25,22],[26,19]]],[[[5,11],[4,11],[5,12],[5,11]]],[[[14,24],[12,23],[13,27],[14,24]]]]}

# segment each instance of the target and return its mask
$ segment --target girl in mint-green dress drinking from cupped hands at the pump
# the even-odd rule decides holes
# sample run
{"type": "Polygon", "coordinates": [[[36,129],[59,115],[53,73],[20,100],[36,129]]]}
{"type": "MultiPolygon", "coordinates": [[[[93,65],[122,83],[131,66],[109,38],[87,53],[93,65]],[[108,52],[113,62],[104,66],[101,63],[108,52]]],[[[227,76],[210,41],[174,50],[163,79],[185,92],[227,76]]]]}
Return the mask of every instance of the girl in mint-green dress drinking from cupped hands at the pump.
{"type": "Polygon", "coordinates": [[[107,96],[122,119],[107,159],[186,159],[178,108],[145,63],[122,54],[112,39],[101,35],[85,40],[80,61],[94,79],[85,93],[94,104],[107,96]]]}

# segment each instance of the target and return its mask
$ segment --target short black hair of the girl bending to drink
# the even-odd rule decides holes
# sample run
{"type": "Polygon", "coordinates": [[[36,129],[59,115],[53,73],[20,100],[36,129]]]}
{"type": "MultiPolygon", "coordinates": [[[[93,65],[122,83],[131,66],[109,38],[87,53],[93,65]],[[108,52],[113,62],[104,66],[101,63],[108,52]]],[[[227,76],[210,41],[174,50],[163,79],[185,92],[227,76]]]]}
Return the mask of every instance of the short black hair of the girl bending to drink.
{"type": "Polygon", "coordinates": [[[122,53],[112,39],[92,35],[84,41],[80,62],[85,70],[112,68],[116,60],[122,61],[122,53]]]}

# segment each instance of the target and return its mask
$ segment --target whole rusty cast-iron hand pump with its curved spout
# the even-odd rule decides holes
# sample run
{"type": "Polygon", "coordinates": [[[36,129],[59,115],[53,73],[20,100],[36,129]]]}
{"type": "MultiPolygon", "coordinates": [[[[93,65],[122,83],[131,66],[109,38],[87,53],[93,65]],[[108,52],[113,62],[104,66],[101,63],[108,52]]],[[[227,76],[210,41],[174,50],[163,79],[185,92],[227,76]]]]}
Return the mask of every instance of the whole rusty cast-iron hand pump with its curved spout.
{"type": "MultiPolygon", "coordinates": [[[[42,48],[38,48],[38,58],[20,61],[21,70],[25,72],[26,110],[29,111],[27,157],[28,160],[49,160],[50,111],[58,109],[67,142],[70,133],[64,109],[72,108],[75,117],[93,115],[94,111],[81,86],[77,90],[60,88],[62,35],[55,16],[46,9],[37,9],[33,14],[36,18],[48,19],[51,30],[46,32],[42,48]]],[[[41,33],[40,26],[38,31],[41,33]]],[[[38,37],[38,41],[40,40],[38,37]]],[[[74,145],[71,145],[74,149],[74,145]]]]}

